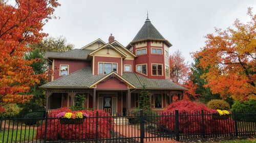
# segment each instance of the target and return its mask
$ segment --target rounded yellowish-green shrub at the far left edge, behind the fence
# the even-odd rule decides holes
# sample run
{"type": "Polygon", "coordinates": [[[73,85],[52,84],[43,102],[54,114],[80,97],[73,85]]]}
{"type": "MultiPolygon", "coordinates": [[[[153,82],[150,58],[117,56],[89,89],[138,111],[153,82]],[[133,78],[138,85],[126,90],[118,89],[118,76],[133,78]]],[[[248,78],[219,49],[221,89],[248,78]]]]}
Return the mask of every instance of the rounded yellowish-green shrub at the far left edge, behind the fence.
{"type": "Polygon", "coordinates": [[[5,111],[0,113],[0,118],[15,118],[20,111],[20,108],[15,103],[7,104],[3,107],[5,111]]]}

